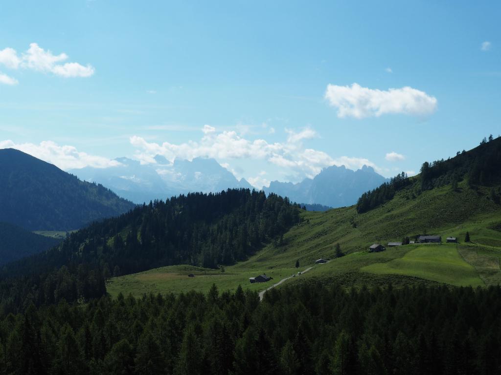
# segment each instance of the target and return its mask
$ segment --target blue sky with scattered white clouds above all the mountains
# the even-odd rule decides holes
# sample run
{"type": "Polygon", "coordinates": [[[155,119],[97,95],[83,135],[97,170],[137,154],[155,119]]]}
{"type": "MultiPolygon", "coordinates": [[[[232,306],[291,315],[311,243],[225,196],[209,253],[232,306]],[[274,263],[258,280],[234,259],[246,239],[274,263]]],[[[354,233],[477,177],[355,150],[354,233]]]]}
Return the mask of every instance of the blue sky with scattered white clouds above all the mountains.
{"type": "Polygon", "coordinates": [[[65,169],[209,156],[257,186],[330,164],[418,171],[501,132],[500,10],[2,1],[0,147],[65,169]]]}

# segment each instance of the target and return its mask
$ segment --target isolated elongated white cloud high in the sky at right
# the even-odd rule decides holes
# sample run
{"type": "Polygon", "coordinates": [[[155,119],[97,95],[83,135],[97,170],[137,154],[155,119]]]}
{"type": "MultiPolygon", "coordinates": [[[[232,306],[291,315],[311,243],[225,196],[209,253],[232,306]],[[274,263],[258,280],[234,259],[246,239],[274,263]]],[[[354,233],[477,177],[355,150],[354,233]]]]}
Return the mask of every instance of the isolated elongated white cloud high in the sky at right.
{"type": "Polygon", "coordinates": [[[433,113],[437,99],[412,87],[389,88],[388,90],[351,86],[327,85],[325,98],[338,108],[338,117],[364,118],[388,113],[425,116],[433,113]]]}

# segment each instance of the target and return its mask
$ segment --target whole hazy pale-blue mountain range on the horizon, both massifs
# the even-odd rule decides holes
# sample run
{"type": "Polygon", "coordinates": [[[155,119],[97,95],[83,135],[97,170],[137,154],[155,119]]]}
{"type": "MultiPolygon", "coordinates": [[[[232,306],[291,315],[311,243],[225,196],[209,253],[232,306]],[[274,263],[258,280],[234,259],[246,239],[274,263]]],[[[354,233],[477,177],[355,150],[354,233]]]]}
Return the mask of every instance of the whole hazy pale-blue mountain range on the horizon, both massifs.
{"type": "MultiPolygon", "coordinates": [[[[150,164],[141,164],[127,157],[115,160],[120,165],[105,169],[85,167],[70,172],[85,181],[102,183],[135,203],[165,199],[190,191],[218,192],[228,188],[254,188],[244,178],[236,179],[233,173],[213,158],[196,157],[192,161],[176,159],[171,163],[165,157],[157,155],[156,163],[150,164]]],[[[299,183],[273,181],[270,187],[263,187],[263,190],[287,196],[291,201],[301,204],[319,204],[316,208],[310,206],[309,209],[325,210],[354,204],[363,192],[386,181],[387,178],[369,166],[364,165],[357,171],[345,166],[330,166],[315,178],[305,178],[299,183]]]]}

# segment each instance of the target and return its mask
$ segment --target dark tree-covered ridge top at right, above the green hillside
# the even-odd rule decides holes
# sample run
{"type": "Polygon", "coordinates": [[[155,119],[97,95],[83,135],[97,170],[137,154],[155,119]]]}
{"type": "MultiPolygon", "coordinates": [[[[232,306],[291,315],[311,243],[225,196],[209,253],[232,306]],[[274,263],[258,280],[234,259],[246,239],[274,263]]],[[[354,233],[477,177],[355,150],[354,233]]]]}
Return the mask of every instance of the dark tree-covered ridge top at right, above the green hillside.
{"type": "MultiPolygon", "coordinates": [[[[457,189],[457,183],[466,179],[468,186],[491,186],[501,181],[501,137],[489,136],[480,145],[466,152],[457,151],[456,156],[447,160],[425,161],[416,177],[408,178],[402,172],[389,182],[363,193],[357,201],[357,212],[363,213],[392,199],[395,192],[408,190],[408,197],[419,195],[423,190],[451,184],[457,189]]],[[[500,191],[491,189],[493,200],[499,200],[500,191]]]]}

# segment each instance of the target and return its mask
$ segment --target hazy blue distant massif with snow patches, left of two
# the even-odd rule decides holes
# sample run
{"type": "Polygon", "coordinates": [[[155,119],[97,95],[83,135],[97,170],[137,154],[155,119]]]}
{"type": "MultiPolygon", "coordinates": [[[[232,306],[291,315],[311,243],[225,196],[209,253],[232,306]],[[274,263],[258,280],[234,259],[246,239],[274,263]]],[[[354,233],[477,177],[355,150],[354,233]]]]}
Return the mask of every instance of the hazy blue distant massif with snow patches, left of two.
{"type": "Polygon", "coordinates": [[[253,188],[244,178],[236,179],[233,173],[212,158],[176,159],[170,163],[165,157],[157,155],[154,164],[141,164],[127,157],[115,160],[120,165],[106,169],[85,167],[71,172],[85,181],[102,183],[135,203],[165,200],[190,191],[208,193],[228,188],[253,188]]]}

